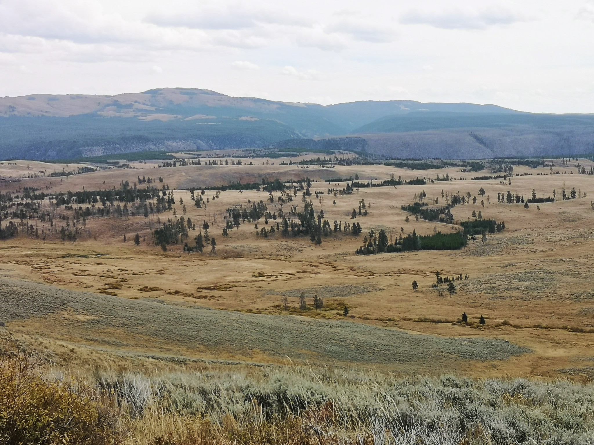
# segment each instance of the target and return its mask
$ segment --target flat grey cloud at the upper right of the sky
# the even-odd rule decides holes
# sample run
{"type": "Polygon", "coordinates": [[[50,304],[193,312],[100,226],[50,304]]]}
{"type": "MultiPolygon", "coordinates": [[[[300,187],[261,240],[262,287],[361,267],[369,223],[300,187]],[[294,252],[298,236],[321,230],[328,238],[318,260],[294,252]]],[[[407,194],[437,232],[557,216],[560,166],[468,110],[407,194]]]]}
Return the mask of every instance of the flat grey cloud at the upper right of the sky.
{"type": "Polygon", "coordinates": [[[485,29],[518,21],[525,21],[525,18],[503,8],[488,8],[482,11],[451,9],[442,12],[412,9],[400,16],[402,24],[424,24],[443,29],[485,29]]]}

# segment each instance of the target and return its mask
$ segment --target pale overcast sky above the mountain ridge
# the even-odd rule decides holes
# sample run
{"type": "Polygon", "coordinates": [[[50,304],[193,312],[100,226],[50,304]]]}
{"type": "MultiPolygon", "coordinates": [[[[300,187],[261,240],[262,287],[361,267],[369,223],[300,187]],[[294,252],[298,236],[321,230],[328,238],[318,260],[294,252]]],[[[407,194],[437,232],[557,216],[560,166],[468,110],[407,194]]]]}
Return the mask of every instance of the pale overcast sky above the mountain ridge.
{"type": "Polygon", "coordinates": [[[0,0],[0,96],[162,87],[594,113],[594,0],[0,0]]]}

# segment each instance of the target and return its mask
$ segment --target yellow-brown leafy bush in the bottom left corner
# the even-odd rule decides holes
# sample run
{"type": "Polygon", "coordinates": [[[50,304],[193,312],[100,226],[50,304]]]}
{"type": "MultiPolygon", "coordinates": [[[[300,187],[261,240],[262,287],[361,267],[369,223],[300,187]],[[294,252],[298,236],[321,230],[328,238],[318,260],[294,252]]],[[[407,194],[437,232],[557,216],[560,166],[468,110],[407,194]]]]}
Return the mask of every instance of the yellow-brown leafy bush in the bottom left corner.
{"type": "Polygon", "coordinates": [[[23,357],[0,361],[0,443],[103,445],[123,436],[109,405],[69,384],[46,382],[23,357]]]}

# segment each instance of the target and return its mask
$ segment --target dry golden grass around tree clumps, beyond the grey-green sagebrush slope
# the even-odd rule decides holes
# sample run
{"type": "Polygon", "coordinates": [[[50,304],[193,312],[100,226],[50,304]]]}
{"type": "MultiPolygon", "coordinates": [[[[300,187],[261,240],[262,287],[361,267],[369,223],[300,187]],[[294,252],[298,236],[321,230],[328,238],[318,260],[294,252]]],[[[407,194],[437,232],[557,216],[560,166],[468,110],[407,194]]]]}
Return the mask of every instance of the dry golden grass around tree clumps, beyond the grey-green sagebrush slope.
{"type": "MultiPolygon", "coordinates": [[[[248,200],[266,201],[267,193],[222,192],[220,198],[210,201],[206,209],[197,209],[187,190],[175,190],[176,199],[182,198],[187,206],[185,217],[192,218],[197,225],[197,231],[190,231],[190,240],[198,233],[202,221],[207,220],[211,226],[209,233],[217,240],[216,255],[206,252],[188,255],[182,252],[181,245],[170,247],[163,253],[152,243],[151,231],[157,227],[156,215],[148,220],[143,217],[89,219],[83,236],[75,243],[62,243],[57,237],[45,241],[27,237],[2,241],[2,274],[72,290],[116,294],[122,298],[158,298],[172,304],[263,314],[286,314],[282,307],[283,294],[287,295],[289,306],[296,308],[298,295],[303,291],[309,304],[313,295],[318,294],[327,306],[334,307],[333,310],[309,310],[302,313],[305,316],[342,320],[345,317],[337,309],[347,304],[350,307],[347,320],[353,323],[442,336],[501,338],[534,351],[505,362],[463,364],[459,368],[463,373],[554,376],[590,372],[594,334],[571,330],[594,327],[594,292],[590,285],[594,247],[594,211],[590,206],[594,198],[592,176],[576,174],[574,166],[556,168],[562,173],[567,171],[567,174],[559,175],[549,175],[548,169],[543,168],[515,167],[514,173],[531,173],[533,176],[512,177],[510,186],[501,185],[499,180],[472,181],[470,177],[488,173],[461,173],[453,168],[429,171],[386,166],[304,169],[280,166],[281,160],[271,161],[275,165],[258,163],[254,166],[170,169],[138,164],[137,167],[143,168],[77,175],[60,183],[56,183],[59,178],[52,178],[52,186],[49,186],[48,178],[27,179],[4,184],[2,189],[14,192],[29,185],[42,190],[48,186],[64,191],[81,189],[83,185],[86,189],[108,188],[118,186],[121,180],[134,182],[137,176],[143,175],[162,176],[163,183],[172,188],[217,185],[229,180],[255,182],[263,176],[283,180],[308,176],[313,180],[324,180],[358,174],[361,180],[383,180],[391,173],[413,179],[417,176],[434,178],[436,174],[441,176],[447,172],[450,177],[467,179],[425,186],[361,189],[353,195],[336,198],[321,195],[321,201],[312,196],[315,208],[323,208],[325,218],[330,222],[335,219],[352,222],[350,212],[358,207],[361,199],[370,205],[369,215],[356,220],[364,229],[361,237],[339,234],[324,238],[321,246],[314,246],[305,237],[285,239],[276,234],[263,239],[255,235],[254,225],[248,222],[239,230],[229,230],[228,238],[221,236],[226,208],[248,205],[248,200]],[[569,174],[570,171],[573,174],[569,174]],[[537,176],[536,173],[547,174],[537,176]],[[523,205],[497,204],[498,192],[511,190],[529,198],[535,189],[538,196],[549,196],[553,189],[560,193],[564,185],[567,190],[575,187],[586,192],[587,197],[540,204],[540,211],[536,205],[525,209],[523,205]],[[478,196],[480,187],[486,190],[484,207],[478,196]],[[411,233],[413,229],[419,234],[430,234],[434,229],[451,231],[452,227],[447,224],[415,221],[414,218],[405,222],[406,213],[400,206],[413,202],[413,195],[421,190],[425,190],[428,199],[437,197],[440,202],[443,202],[442,190],[448,193],[469,191],[477,196],[478,203],[454,207],[452,212],[456,220],[466,220],[473,210],[481,210],[484,218],[503,220],[507,228],[503,233],[488,236],[484,244],[471,242],[459,251],[354,255],[362,237],[371,228],[384,228],[388,237],[394,238],[401,233],[401,227],[403,234],[411,233]],[[491,204],[486,201],[487,195],[491,204]],[[334,199],[336,205],[332,204],[334,199]],[[137,232],[141,235],[140,246],[131,242],[137,232]],[[127,243],[122,241],[124,234],[127,234],[127,243]],[[449,276],[468,274],[470,279],[456,282],[457,293],[452,297],[446,292],[442,297],[438,290],[431,288],[435,271],[449,276]],[[413,280],[419,283],[416,292],[410,285],[413,280]],[[459,323],[452,325],[451,321],[459,319],[463,312],[475,322],[484,315],[486,326],[475,329],[459,323]],[[504,324],[504,320],[509,323],[504,324]]],[[[584,164],[591,165],[588,161],[584,164]]],[[[325,192],[327,188],[327,183],[314,182],[311,191],[325,192]]],[[[213,194],[207,190],[204,198],[211,199],[213,194]]],[[[275,193],[275,197],[277,195],[275,193]]],[[[297,196],[292,204],[302,207],[299,198],[297,196]]],[[[181,216],[181,205],[175,207],[181,216]]],[[[268,204],[268,208],[274,211],[280,205],[275,202],[268,204]]],[[[166,212],[159,218],[165,221],[173,215],[166,212]]],[[[59,227],[62,221],[56,222],[59,227]]],[[[263,225],[263,221],[258,222],[259,227],[263,225]]],[[[293,310],[292,313],[299,312],[293,310]]],[[[56,332],[60,323],[52,322],[56,332]]],[[[33,325],[27,323],[23,328],[19,328],[18,323],[9,326],[23,336],[33,329],[33,325]]],[[[52,333],[45,332],[44,335],[51,337],[52,333]]],[[[83,337],[77,336],[75,342],[84,344],[83,337]]],[[[139,339],[138,345],[141,343],[142,339],[139,339]]],[[[190,354],[191,351],[186,352],[190,354]]],[[[194,352],[204,354],[204,357],[208,355],[204,350],[194,352]]]]}

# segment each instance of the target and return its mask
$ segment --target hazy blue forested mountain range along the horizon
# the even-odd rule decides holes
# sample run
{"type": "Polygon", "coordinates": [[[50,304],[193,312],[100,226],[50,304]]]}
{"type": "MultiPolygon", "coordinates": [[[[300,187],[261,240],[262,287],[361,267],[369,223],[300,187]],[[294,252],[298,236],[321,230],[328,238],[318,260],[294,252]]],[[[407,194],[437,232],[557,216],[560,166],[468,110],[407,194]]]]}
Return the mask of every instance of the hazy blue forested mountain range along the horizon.
{"type": "Polygon", "coordinates": [[[160,88],[116,96],[0,98],[0,157],[56,159],[146,150],[366,147],[393,157],[574,154],[594,116],[495,105],[359,101],[330,106],[160,88]],[[361,136],[336,139],[336,136],[361,136]],[[328,139],[314,144],[311,139],[328,139]],[[364,140],[364,142],[362,142],[364,140]]]}

